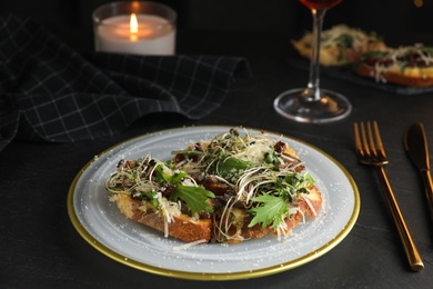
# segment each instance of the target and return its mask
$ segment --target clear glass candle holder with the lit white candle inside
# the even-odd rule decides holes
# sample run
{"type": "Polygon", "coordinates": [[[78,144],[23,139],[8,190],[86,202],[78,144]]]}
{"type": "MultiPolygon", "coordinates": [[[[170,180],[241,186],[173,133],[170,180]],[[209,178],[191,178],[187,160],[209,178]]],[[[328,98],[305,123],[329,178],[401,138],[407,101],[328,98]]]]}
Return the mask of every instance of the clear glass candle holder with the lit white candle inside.
{"type": "Polygon", "coordinates": [[[147,1],[119,1],[92,14],[97,51],[172,56],[175,51],[177,12],[147,1]]]}

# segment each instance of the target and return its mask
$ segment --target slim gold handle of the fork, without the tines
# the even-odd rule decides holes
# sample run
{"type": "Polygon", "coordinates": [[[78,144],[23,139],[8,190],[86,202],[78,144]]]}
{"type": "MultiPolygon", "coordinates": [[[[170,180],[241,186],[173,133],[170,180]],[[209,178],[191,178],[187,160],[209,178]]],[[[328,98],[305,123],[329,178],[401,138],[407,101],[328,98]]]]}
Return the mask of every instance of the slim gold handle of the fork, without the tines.
{"type": "Polygon", "coordinates": [[[375,169],[379,176],[379,180],[385,192],[386,201],[390,206],[392,217],[399,230],[400,239],[402,240],[411,269],[412,271],[421,271],[424,269],[424,263],[420,257],[420,253],[417,252],[415,243],[412,240],[412,236],[407,229],[406,222],[404,221],[403,215],[400,211],[394,192],[392,191],[391,185],[387,180],[385,169],[383,166],[375,166],[375,169]]]}

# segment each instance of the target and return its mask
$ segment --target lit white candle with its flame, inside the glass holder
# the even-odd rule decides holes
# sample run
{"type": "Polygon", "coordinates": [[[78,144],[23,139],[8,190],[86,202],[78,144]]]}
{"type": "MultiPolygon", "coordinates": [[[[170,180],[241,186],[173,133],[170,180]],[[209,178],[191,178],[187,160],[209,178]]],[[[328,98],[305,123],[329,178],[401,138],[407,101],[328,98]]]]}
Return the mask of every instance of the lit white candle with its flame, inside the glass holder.
{"type": "Polygon", "coordinates": [[[103,19],[95,38],[98,51],[174,54],[175,28],[159,16],[131,13],[103,19]]]}

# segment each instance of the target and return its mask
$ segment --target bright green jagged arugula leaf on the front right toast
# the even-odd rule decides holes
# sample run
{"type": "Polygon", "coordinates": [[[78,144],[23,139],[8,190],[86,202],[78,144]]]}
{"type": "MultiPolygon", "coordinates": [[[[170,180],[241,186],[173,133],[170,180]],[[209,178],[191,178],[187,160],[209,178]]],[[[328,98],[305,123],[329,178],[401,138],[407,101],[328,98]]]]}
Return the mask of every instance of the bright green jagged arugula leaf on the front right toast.
{"type": "Polygon", "coordinates": [[[261,206],[250,209],[250,212],[254,215],[249,227],[253,227],[256,223],[261,223],[262,228],[265,228],[273,223],[274,229],[283,221],[282,216],[289,213],[288,202],[284,198],[275,197],[272,195],[262,195],[252,199],[255,202],[262,202],[261,206]]]}

